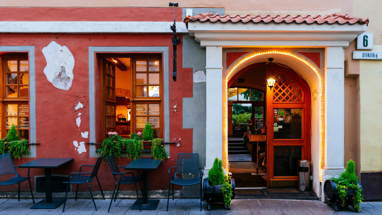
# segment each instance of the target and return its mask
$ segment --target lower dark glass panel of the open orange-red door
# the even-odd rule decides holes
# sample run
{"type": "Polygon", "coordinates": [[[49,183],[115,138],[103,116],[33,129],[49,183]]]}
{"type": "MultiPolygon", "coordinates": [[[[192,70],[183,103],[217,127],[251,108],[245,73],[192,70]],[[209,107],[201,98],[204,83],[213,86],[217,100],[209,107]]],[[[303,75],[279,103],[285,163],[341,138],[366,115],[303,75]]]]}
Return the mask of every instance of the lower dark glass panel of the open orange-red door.
{"type": "Polygon", "coordinates": [[[302,146],[274,146],[274,176],[297,176],[298,160],[302,159],[302,146]]]}

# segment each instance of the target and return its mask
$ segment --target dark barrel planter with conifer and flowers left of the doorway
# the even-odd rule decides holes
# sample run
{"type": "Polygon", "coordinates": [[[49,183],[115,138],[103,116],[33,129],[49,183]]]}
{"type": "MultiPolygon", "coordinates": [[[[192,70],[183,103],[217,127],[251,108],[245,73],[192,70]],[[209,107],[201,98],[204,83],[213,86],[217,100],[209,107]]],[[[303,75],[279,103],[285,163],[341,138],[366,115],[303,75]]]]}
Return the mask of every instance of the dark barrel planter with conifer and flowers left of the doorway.
{"type": "Polygon", "coordinates": [[[222,160],[215,158],[208,177],[203,181],[203,199],[207,200],[207,210],[211,209],[213,202],[223,202],[226,209],[231,210],[231,199],[235,199],[235,180],[230,175],[224,175],[222,160]]]}

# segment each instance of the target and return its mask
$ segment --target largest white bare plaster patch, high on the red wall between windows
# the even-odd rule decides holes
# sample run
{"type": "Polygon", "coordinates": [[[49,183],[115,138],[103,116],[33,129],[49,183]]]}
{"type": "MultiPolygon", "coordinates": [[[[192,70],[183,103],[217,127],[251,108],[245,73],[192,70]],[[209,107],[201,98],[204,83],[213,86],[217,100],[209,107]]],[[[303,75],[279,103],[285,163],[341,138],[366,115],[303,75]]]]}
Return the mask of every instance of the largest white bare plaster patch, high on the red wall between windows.
{"type": "Polygon", "coordinates": [[[42,48],[47,65],[44,74],[48,81],[58,89],[69,90],[73,81],[74,57],[64,45],[52,41],[42,48]]]}

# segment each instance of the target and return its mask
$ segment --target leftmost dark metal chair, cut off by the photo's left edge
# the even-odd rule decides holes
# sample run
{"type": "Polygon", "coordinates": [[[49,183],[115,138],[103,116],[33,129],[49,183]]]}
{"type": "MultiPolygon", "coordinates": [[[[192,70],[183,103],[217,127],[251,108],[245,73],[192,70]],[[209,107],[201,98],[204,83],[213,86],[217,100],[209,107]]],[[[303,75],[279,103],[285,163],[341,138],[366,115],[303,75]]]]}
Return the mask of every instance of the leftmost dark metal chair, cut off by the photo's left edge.
{"type": "Polygon", "coordinates": [[[17,174],[15,167],[18,167],[18,166],[13,165],[12,158],[9,153],[0,155],[0,175],[16,174],[15,177],[7,181],[0,182],[0,185],[19,184],[19,201],[20,201],[20,183],[28,180],[29,188],[31,189],[32,200],[34,204],[31,177],[29,177],[29,168],[28,168],[28,177],[21,177],[19,174],[17,174]]]}

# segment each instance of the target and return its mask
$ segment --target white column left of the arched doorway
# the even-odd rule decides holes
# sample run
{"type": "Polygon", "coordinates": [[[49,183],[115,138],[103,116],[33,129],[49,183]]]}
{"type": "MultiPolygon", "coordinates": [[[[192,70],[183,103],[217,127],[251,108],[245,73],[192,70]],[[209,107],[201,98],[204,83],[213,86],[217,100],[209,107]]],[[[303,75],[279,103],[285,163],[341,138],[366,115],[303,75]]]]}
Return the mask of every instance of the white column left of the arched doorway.
{"type": "MultiPolygon", "coordinates": [[[[223,67],[222,46],[206,47],[206,170],[222,159],[223,67]]],[[[206,173],[206,171],[205,171],[206,173]]]]}

